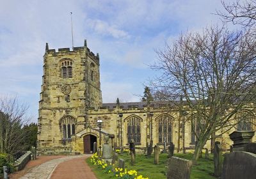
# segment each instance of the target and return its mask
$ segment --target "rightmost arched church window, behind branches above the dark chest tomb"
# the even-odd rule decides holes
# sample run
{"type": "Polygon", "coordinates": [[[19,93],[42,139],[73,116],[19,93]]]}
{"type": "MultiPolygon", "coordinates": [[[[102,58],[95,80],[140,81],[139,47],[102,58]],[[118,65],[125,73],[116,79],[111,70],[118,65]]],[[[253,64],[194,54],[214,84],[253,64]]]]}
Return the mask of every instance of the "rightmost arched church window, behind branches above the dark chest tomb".
{"type": "Polygon", "coordinates": [[[236,114],[237,130],[252,130],[253,114],[248,111],[242,111],[236,114]]]}

